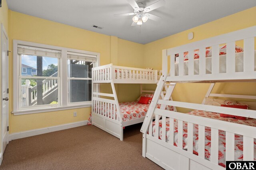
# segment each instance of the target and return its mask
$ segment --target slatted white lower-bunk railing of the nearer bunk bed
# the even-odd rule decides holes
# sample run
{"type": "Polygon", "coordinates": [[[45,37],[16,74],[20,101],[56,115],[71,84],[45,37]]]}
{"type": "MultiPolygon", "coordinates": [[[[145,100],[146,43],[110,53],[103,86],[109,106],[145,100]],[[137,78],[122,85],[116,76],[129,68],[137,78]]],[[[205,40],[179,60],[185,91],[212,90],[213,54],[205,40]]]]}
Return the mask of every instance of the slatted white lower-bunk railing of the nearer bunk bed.
{"type": "MultiPolygon", "coordinates": [[[[256,111],[217,107],[210,105],[199,105],[193,103],[183,103],[177,101],[158,100],[158,104],[172,105],[176,107],[185,107],[190,109],[204,110],[204,111],[218,111],[219,113],[236,113],[236,115],[243,115],[245,117],[256,118],[256,111]],[[238,114],[241,113],[242,114],[238,114]]],[[[155,134],[152,135],[152,118],[148,127],[147,138],[161,143],[163,146],[174,150],[210,169],[224,169],[218,165],[218,130],[226,132],[226,160],[234,160],[234,142],[235,134],[243,136],[243,160],[254,160],[254,138],[256,138],[256,127],[220,121],[216,119],[209,119],[206,117],[199,117],[188,115],[184,113],[167,111],[163,109],[155,109],[155,134]],[[159,119],[162,117],[162,138],[159,139],[159,119]],[[170,119],[169,141],[166,142],[166,119],[170,119]],[[174,146],[174,119],[178,122],[178,146],[174,146]],[[183,122],[187,123],[187,150],[183,149],[183,122]],[[198,155],[193,153],[193,128],[198,125],[198,155]],[[211,128],[211,146],[210,146],[210,160],[205,159],[205,127],[211,128]]],[[[233,114],[234,115],[234,114],[233,114]]]]}

